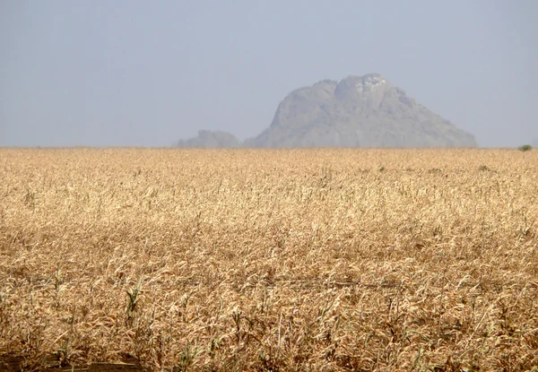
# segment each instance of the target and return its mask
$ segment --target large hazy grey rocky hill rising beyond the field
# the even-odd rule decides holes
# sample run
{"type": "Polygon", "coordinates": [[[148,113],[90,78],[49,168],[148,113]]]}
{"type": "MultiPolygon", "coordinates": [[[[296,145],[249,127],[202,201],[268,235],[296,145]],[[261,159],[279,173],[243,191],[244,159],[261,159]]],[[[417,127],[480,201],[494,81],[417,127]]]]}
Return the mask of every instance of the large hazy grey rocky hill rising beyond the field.
{"type": "MultiPolygon", "coordinates": [[[[216,147],[202,140],[196,147],[216,147]]],[[[382,75],[367,74],[292,91],[271,125],[243,146],[475,147],[476,141],[382,75]]]]}

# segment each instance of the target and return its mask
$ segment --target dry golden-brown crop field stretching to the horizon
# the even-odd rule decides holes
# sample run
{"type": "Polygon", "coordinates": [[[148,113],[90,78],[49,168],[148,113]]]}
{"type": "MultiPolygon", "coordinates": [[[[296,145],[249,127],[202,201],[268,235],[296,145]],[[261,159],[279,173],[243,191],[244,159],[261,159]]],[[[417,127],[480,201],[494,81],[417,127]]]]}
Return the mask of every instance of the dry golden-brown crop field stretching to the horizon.
{"type": "Polygon", "coordinates": [[[0,196],[25,369],[538,370],[538,151],[3,149],[0,196]]]}

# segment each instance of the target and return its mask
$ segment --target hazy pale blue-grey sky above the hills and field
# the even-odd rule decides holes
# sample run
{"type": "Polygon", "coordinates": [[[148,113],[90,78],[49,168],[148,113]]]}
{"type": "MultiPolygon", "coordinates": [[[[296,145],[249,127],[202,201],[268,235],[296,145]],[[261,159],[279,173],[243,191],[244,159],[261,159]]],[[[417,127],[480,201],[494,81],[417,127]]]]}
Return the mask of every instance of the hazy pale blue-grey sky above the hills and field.
{"type": "Polygon", "coordinates": [[[0,146],[243,140],[369,73],[480,146],[538,143],[538,1],[0,0],[0,146]]]}

